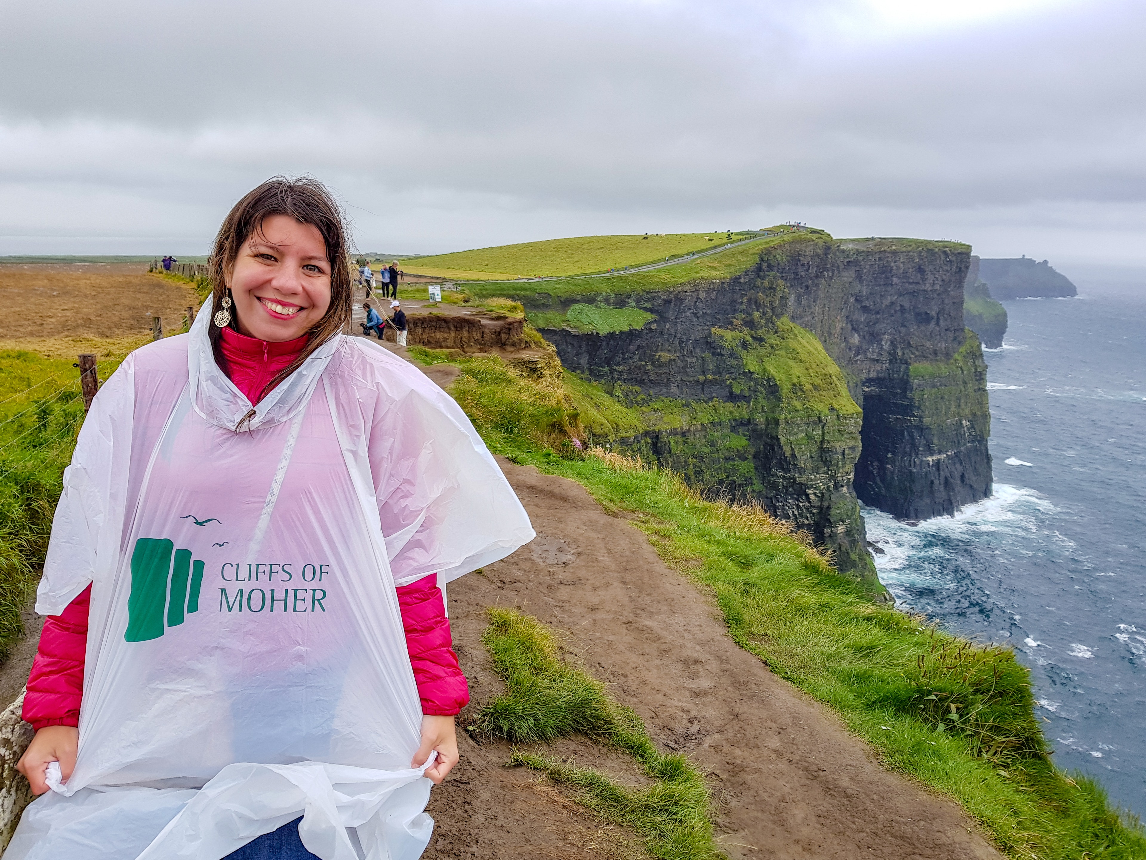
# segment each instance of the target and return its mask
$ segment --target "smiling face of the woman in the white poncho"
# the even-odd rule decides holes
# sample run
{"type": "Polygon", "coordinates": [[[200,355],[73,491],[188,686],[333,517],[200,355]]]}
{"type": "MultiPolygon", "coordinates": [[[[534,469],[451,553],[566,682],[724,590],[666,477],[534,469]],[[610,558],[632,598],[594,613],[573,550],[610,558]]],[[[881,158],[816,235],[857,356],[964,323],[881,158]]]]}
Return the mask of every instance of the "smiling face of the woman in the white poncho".
{"type": "Polygon", "coordinates": [[[238,330],[293,341],[330,307],[330,260],[322,234],[290,216],[268,216],[246,237],[228,279],[238,330]]]}

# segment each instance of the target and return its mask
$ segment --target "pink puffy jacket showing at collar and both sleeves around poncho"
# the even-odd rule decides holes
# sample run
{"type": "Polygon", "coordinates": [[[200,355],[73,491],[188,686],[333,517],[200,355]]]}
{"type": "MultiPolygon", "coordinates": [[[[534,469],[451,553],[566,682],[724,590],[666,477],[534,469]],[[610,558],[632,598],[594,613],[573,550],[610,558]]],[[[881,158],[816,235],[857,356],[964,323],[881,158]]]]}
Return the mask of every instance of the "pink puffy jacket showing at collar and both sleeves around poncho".
{"type": "MultiPolygon", "coordinates": [[[[272,343],[231,329],[222,333],[227,375],[251,402],[258,402],[266,384],[306,345],[305,337],[272,343]]],[[[63,613],[49,616],[44,623],[23,712],[24,720],[37,730],[45,726],[79,725],[91,595],[88,586],[63,613]]],[[[457,713],[469,703],[470,691],[454,654],[449,619],[435,576],[431,573],[399,586],[398,603],[422,713],[457,713]]]]}

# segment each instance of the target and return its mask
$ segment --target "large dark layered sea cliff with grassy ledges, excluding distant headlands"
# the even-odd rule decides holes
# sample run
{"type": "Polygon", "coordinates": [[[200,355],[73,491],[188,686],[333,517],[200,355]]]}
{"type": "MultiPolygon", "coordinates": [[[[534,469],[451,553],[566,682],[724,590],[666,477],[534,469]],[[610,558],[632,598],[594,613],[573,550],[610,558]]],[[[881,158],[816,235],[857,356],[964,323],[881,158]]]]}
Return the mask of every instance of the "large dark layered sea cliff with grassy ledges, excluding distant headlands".
{"type": "Polygon", "coordinates": [[[925,518],[990,493],[970,248],[807,232],[725,255],[484,289],[520,300],[565,368],[638,416],[590,441],[758,501],[879,593],[859,499],[925,518]]]}

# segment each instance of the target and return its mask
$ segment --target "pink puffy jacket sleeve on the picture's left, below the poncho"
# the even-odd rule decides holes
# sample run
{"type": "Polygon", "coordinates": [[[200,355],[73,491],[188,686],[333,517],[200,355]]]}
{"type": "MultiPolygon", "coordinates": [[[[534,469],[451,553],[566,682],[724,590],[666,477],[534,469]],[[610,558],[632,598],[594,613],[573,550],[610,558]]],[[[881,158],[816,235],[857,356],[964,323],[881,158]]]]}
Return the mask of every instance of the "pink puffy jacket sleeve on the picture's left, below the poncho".
{"type": "Polygon", "coordinates": [[[45,726],[78,726],[84,697],[84,658],[87,652],[87,612],[92,586],[61,615],[48,616],[28,677],[25,722],[39,732],[45,726]]]}

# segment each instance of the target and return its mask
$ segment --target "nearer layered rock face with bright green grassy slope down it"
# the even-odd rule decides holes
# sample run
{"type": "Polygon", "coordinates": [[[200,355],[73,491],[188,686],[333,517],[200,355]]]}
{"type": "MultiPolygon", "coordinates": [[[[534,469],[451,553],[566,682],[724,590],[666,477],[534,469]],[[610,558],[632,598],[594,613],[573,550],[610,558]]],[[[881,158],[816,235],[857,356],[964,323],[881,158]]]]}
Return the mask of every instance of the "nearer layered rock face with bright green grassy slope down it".
{"type": "Polygon", "coordinates": [[[597,298],[652,319],[626,331],[542,334],[566,368],[641,408],[650,429],[613,444],[694,486],[759,501],[881,594],[851,488],[862,414],[818,341],[784,318],[779,279],[758,266],[728,281],[597,298]]]}

